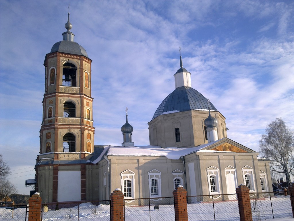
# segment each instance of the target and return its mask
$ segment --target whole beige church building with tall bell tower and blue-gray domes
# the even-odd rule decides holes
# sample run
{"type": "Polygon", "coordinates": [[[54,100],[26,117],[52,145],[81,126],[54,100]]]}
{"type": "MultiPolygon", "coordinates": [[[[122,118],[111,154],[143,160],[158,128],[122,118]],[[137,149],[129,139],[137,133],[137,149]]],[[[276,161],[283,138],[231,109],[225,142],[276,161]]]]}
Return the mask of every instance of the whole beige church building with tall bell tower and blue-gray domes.
{"type": "MultiPolygon", "coordinates": [[[[175,90],[148,122],[150,146],[136,146],[133,127],[121,127],[121,146],[94,145],[91,62],[74,42],[72,25],[46,54],[36,191],[50,202],[107,200],[120,188],[126,199],[272,191],[269,160],[227,138],[225,117],[192,88],[191,73],[174,74],[175,90]]],[[[171,73],[172,74],[172,73],[171,73]]],[[[126,109],[127,111],[127,109],[126,109]]],[[[119,128],[118,128],[119,130],[119,128]]]]}

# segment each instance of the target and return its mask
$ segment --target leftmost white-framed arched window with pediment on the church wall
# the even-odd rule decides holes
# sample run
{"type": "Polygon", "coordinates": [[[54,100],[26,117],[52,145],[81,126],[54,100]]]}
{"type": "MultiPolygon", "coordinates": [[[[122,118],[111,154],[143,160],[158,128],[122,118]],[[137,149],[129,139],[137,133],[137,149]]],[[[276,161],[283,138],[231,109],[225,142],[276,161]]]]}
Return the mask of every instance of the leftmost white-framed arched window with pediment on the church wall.
{"type": "Polygon", "coordinates": [[[121,189],[124,198],[135,197],[135,173],[131,170],[125,170],[121,173],[121,189]]]}

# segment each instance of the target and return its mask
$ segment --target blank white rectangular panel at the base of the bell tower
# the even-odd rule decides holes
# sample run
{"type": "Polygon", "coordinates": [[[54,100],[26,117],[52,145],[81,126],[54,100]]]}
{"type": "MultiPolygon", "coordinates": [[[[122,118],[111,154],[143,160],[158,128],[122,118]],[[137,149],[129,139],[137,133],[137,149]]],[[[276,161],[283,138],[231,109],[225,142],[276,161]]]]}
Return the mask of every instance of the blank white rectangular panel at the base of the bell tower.
{"type": "Polygon", "coordinates": [[[81,171],[58,171],[58,202],[81,200],[81,171]]]}

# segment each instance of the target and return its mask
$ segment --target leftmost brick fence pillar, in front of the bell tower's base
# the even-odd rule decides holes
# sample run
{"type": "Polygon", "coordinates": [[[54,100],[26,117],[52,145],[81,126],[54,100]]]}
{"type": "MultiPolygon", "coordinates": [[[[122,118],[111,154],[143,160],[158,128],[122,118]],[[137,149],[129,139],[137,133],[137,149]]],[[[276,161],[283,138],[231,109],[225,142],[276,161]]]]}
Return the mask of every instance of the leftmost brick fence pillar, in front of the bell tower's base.
{"type": "Polygon", "coordinates": [[[42,198],[35,193],[29,198],[29,221],[40,221],[42,210],[42,198]]]}

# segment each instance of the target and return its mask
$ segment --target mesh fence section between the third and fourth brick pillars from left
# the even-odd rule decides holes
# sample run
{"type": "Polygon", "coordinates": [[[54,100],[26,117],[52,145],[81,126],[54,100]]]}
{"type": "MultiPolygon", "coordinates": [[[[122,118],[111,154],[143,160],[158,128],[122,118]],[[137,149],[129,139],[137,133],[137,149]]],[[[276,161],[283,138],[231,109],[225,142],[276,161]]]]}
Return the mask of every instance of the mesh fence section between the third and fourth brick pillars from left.
{"type": "Polygon", "coordinates": [[[240,220],[237,194],[188,196],[188,220],[240,220]]]}

